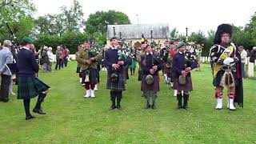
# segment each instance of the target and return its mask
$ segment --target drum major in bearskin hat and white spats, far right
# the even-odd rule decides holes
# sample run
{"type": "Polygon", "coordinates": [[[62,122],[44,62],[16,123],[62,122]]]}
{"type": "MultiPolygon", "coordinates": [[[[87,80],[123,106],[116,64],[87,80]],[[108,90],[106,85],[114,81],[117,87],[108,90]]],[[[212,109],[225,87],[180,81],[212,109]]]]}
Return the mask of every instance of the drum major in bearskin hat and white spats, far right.
{"type": "Polygon", "coordinates": [[[243,87],[241,56],[234,45],[230,42],[233,28],[229,24],[218,26],[214,38],[214,46],[210,49],[210,64],[213,70],[213,84],[215,98],[217,99],[216,110],[222,109],[222,94],[224,86],[228,90],[228,105],[230,110],[236,110],[234,102],[243,106],[243,87]]]}

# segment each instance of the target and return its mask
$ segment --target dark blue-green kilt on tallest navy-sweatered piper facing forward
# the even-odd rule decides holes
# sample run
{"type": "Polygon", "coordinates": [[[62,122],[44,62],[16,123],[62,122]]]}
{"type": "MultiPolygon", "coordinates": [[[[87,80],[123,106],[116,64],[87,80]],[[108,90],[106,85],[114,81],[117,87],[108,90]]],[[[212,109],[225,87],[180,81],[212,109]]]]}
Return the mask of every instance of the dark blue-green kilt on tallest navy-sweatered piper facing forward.
{"type": "Polygon", "coordinates": [[[122,68],[118,73],[119,80],[118,82],[111,82],[111,70],[107,70],[107,82],[106,89],[108,90],[126,90],[125,82],[126,82],[126,69],[122,68]]]}

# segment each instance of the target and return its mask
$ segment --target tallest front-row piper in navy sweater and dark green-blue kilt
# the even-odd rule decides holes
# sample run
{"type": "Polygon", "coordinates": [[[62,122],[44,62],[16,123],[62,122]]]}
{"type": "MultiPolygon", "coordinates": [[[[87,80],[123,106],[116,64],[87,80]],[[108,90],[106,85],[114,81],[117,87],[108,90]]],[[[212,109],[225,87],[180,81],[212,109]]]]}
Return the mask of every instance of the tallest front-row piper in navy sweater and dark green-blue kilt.
{"type": "Polygon", "coordinates": [[[121,58],[118,55],[118,38],[113,37],[110,39],[111,47],[106,50],[104,63],[107,69],[107,82],[106,89],[110,90],[110,100],[112,105],[110,110],[118,108],[121,109],[121,99],[122,91],[126,90],[126,68],[131,60],[130,58],[121,58]],[[115,105],[115,100],[117,99],[117,105],[115,105]]]}

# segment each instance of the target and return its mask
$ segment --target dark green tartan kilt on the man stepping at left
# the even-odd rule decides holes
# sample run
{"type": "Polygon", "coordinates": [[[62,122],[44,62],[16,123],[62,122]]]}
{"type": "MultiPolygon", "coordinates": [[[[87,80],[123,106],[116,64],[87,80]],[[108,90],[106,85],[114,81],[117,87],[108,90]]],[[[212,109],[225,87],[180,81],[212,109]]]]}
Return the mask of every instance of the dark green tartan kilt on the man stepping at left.
{"type": "Polygon", "coordinates": [[[18,77],[18,99],[35,98],[50,88],[36,77],[18,77]]]}

